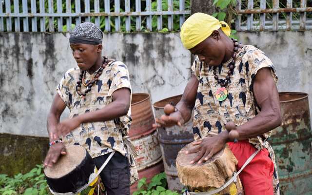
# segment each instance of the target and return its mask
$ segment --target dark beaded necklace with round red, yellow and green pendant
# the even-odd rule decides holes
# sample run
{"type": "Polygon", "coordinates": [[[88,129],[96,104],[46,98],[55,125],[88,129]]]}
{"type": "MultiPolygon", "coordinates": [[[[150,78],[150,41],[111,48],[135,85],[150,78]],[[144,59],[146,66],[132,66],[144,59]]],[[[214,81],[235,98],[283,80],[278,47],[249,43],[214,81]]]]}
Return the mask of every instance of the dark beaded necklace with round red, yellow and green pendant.
{"type": "Polygon", "coordinates": [[[237,39],[231,38],[234,42],[234,53],[232,55],[233,60],[230,62],[230,70],[228,71],[228,75],[224,80],[219,79],[219,77],[216,75],[216,67],[213,68],[213,73],[214,73],[214,78],[217,80],[218,84],[220,84],[220,88],[218,88],[215,92],[215,97],[219,101],[223,101],[228,97],[228,90],[225,88],[226,86],[229,85],[231,82],[231,75],[233,75],[234,72],[234,65],[235,65],[235,58],[236,58],[236,52],[238,51],[238,42],[237,39]]]}

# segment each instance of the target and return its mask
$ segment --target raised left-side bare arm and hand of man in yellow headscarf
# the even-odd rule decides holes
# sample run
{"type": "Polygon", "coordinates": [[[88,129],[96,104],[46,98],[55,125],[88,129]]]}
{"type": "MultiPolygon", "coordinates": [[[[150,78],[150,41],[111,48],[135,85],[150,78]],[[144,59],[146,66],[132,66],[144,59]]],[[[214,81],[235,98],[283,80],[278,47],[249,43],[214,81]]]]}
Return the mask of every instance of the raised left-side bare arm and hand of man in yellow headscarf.
{"type": "Polygon", "coordinates": [[[199,81],[196,76],[192,75],[184,89],[181,100],[176,104],[176,112],[171,113],[169,116],[163,115],[160,118],[156,118],[157,124],[153,126],[170,127],[173,125],[182,125],[189,121],[195,105],[198,83],[199,81]]]}

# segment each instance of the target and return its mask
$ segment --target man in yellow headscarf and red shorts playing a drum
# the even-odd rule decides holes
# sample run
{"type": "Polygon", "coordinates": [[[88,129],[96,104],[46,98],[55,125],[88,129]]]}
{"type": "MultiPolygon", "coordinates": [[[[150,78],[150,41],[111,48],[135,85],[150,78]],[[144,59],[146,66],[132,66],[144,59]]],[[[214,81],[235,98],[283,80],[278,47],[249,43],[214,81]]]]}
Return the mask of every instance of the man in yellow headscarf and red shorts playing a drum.
{"type": "Polygon", "coordinates": [[[181,41],[196,55],[193,74],[175,112],[157,118],[155,126],[182,125],[194,109],[197,141],[188,153],[197,156],[190,163],[207,161],[227,143],[239,170],[260,149],[239,174],[245,194],[278,195],[274,152],[266,142],[281,124],[275,69],[261,50],[230,39],[230,34],[228,24],[207,14],[195,13],[184,22],[181,41]]]}

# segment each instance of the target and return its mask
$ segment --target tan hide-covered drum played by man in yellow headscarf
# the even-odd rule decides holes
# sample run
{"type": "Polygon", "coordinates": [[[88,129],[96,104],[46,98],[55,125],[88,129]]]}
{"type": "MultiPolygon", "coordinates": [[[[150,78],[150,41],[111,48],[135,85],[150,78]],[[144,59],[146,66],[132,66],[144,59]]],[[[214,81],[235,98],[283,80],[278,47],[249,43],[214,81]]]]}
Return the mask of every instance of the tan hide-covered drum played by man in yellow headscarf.
{"type": "MultiPolygon", "coordinates": [[[[185,154],[185,151],[196,147],[192,143],[182,148],[176,157],[177,174],[180,182],[188,188],[189,192],[214,191],[232,178],[236,172],[237,159],[227,145],[206,162],[190,164],[197,156],[196,153],[185,154]]],[[[237,176],[236,182],[232,182],[216,195],[243,194],[243,187],[237,176]]]]}

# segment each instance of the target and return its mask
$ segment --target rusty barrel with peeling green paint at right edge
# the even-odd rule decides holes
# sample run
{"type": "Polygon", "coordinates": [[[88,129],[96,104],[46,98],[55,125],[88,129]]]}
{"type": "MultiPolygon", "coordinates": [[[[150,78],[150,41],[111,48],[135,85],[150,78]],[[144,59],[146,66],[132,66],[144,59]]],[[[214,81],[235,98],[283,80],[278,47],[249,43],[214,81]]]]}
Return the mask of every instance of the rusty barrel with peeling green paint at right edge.
{"type": "Polygon", "coordinates": [[[308,94],[279,93],[282,125],[272,131],[271,143],[281,195],[312,194],[312,132],[308,94]]]}

